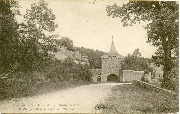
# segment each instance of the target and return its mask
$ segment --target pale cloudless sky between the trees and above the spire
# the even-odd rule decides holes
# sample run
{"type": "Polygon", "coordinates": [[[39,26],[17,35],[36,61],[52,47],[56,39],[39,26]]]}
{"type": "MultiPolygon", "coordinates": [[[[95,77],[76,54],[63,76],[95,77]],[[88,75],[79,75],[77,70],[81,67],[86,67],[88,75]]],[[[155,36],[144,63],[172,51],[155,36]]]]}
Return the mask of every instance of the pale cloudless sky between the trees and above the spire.
{"type": "MultiPolygon", "coordinates": [[[[21,13],[30,8],[30,4],[38,0],[18,0],[21,13]]],[[[108,52],[112,36],[116,50],[126,56],[139,48],[146,58],[156,51],[147,41],[146,23],[123,27],[119,18],[107,16],[107,5],[114,3],[121,6],[127,0],[45,0],[56,15],[58,28],[55,33],[61,37],[69,37],[74,46],[108,52]]]]}

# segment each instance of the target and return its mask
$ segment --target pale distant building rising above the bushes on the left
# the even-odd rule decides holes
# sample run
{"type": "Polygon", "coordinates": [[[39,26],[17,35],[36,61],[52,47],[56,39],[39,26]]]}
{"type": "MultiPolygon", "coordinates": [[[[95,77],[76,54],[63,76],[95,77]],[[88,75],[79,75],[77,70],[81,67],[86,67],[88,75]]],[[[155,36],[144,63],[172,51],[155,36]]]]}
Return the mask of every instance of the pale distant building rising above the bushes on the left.
{"type": "Polygon", "coordinates": [[[59,48],[57,53],[51,53],[58,60],[65,60],[67,58],[73,59],[76,64],[89,65],[88,56],[82,56],[79,51],[73,52],[66,49],[66,47],[59,48]]]}

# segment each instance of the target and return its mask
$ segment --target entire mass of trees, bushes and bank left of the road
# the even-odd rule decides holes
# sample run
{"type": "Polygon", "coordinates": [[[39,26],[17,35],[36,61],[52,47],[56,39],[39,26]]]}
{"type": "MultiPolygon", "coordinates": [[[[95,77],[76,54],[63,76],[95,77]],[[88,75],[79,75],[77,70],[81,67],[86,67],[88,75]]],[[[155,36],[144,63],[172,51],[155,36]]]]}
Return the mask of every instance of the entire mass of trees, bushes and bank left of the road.
{"type": "Polygon", "coordinates": [[[52,35],[55,15],[43,0],[31,5],[18,24],[17,2],[0,1],[0,100],[17,98],[85,84],[89,66],[49,55],[57,45],[52,35]]]}

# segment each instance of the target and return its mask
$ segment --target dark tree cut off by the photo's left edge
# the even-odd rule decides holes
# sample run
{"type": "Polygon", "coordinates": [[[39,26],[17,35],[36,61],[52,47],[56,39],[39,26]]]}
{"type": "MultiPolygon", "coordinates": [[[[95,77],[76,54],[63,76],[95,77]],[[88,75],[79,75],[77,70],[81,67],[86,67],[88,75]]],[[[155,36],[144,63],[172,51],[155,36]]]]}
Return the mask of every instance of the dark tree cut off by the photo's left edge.
{"type": "Polygon", "coordinates": [[[0,74],[11,72],[17,62],[20,41],[15,16],[19,14],[17,2],[0,1],[0,74]]]}

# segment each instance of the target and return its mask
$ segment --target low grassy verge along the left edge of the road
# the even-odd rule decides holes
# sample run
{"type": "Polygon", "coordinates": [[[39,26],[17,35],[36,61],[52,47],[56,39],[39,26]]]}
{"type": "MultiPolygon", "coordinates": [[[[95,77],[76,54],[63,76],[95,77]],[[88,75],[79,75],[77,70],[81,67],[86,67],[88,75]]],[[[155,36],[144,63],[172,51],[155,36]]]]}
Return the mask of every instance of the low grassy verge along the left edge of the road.
{"type": "Polygon", "coordinates": [[[10,100],[13,98],[21,98],[46,94],[53,91],[63,90],[67,88],[77,87],[89,84],[87,81],[74,80],[71,82],[60,81],[17,81],[17,80],[1,80],[0,101],[10,100]]]}

